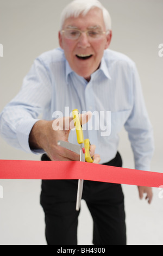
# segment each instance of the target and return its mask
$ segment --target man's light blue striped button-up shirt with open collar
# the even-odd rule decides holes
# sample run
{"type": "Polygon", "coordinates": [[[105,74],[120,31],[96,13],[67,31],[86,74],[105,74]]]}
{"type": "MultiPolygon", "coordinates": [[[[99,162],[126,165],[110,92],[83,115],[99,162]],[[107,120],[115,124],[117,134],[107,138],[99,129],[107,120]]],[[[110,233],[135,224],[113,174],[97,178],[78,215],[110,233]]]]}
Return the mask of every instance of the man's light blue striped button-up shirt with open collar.
{"type": "MultiPolygon", "coordinates": [[[[96,145],[101,163],[115,157],[118,133],[124,126],[133,149],[135,169],[150,170],[153,130],[136,66],[124,54],[109,49],[90,82],[73,72],[60,48],[36,58],[20,92],[0,115],[1,136],[27,153],[42,153],[29,148],[29,133],[35,122],[70,115],[74,108],[80,113],[92,112],[92,119],[83,127],[84,138],[96,145]]],[[[70,132],[69,141],[77,143],[76,131],[70,132]]]]}

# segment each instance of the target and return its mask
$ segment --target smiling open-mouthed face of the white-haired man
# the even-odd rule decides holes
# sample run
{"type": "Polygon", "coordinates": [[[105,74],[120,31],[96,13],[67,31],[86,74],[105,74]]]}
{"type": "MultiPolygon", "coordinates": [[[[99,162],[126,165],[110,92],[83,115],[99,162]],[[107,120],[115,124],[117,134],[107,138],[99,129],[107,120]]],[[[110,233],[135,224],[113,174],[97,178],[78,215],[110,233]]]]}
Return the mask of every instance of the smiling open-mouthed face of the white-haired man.
{"type": "MultiPolygon", "coordinates": [[[[98,27],[102,32],[105,32],[102,10],[95,8],[85,16],[80,15],[77,18],[66,19],[62,29],[65,30],[70,27],[80,31],[98,27]]],[[[99,68],[104,50],[108,48],[110,41],[111,33],[109,35],[102,34],[96,39],[82,33],[78,39],[73,40],[68,39],[65,33],[59,32],[60,47],[64,50],[68,63],[74,72],[87,81],[90,80],[91,74],[99,68]]]]}

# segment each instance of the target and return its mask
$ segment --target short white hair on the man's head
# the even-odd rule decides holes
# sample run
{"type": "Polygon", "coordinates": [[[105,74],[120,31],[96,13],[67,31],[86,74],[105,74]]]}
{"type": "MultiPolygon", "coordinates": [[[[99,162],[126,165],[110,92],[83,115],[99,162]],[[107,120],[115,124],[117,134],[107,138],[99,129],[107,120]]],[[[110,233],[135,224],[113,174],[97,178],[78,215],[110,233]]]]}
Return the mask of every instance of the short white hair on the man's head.
{"type": "Polygon", "coordinates": [[[61,17],[60,17],[60,29],[64,25],[64,22],[69,17],[79,17],[80,14],[85,16],[91,9],[99,8],[103,11],[103,18],[105,23],[106,31],[111,30],[111,17],[103,7],[102,3],[98,0],[73,0],[70,4],[68,4],[64,10],[62,10],[61,17]]]}

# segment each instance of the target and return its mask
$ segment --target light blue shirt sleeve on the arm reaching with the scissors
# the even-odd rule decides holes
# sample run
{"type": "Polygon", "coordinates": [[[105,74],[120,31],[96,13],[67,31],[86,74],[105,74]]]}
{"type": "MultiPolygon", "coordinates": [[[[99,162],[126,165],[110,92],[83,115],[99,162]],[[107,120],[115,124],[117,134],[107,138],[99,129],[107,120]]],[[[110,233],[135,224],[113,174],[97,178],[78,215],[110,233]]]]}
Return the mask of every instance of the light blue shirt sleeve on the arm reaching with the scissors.
{"type": "Polygon", "coordinates": [[[27,153],[42,153],[42,150],[30,150],[29,133],[50,101],[51,79],[48,69],[37,58],[24,78],[20,92],[0,114],[1,136],[12,147],[27,153]]]}

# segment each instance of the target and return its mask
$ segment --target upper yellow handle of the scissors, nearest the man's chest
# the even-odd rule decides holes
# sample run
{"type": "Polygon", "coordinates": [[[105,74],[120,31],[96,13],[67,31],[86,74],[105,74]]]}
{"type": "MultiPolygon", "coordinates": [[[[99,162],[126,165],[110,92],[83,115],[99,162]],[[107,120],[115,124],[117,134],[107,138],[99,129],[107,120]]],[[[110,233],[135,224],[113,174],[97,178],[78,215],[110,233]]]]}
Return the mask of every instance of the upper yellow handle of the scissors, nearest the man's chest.
{"type": "Polygon", "coordinates": [[[78,109],[74,109],[72,111],[72,117],[73,117],[73,121],[74,121],[74,126],[76,127],[77,141],[79,144],[82,144],[82,143],[84,143],[84,136],[83,136],[82,125],[80,123],[78,109]]]}

